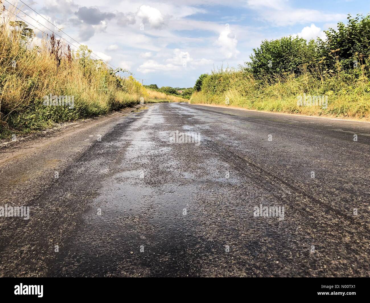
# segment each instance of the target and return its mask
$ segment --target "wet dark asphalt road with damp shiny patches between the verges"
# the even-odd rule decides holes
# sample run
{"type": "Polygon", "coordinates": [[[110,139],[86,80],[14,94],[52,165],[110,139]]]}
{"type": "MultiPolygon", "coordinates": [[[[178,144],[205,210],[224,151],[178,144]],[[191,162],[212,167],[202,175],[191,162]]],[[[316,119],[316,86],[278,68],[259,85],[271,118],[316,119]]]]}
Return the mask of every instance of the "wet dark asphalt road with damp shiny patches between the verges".
{"type": "Polygon", "coordinates": [[[369,276],[370,123],[186,103],[89,123],[0,150],[0,206],[30,206],[0,218],[0,276],[369,276]]]}

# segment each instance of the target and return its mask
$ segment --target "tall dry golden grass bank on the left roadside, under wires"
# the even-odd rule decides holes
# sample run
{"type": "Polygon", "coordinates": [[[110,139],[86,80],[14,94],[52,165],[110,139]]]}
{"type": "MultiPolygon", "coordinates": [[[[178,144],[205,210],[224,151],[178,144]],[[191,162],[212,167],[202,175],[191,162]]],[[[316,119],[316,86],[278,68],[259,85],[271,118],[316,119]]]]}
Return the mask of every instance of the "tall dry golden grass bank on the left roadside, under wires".
{"type": "Polygon", "coordinates": [[[133,77],[118,77],[87,46],[73,51],[54,34],[36,37],[12,13],[0,11],[0,138],[106,114],[141,98],[175,101],[147,92],[133,77]],[[50,94],[74,96],[74,107],[45,106],[50,94]]]}

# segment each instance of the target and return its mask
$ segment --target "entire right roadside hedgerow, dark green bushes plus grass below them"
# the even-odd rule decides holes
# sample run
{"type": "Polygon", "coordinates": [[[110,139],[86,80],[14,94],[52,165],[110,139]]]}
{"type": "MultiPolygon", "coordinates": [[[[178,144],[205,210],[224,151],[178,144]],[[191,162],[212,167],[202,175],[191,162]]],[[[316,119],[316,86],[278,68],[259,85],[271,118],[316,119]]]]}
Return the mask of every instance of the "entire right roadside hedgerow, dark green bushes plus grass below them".
{"type": "Polygon", "coordinates": [[[347,24],[324,33],[317,41],[291,36],[262,41],[245,66],[221,65],[202,74],[191,102],[369,120],[370,14],[348,15],[347,24]],[[327,102],[307,104],[307,95],[327,102]]]}

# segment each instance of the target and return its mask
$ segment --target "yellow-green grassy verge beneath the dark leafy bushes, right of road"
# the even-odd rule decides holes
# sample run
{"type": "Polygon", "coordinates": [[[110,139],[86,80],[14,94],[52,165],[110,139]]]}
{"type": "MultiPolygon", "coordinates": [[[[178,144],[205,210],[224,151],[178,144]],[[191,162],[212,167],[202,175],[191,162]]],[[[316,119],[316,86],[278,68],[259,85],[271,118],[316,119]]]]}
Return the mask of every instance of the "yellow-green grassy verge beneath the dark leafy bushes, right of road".
{"type": "Polygon", "coordinates": [[[289,73],[275,75],[273,80],[256,80],[248,71],[226,68],[208,75],[202,90],[194,92],[190,102],[370,121],[370,82],[361,67],[352,74],[332,71],[326,75],[318,70],[298,77],[289,73]],[[298,106],[297,96],[303,94],[327,95],[327,108],[298,106]]]}

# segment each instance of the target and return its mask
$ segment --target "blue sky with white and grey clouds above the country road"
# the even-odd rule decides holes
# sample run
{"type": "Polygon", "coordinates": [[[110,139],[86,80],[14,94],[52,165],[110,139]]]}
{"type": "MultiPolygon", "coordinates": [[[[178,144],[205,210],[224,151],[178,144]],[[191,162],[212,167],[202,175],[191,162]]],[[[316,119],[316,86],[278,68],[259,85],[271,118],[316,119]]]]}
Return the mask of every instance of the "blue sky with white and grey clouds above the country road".
{"type": "Polygon", "coordinates": [[[159,87],[192,87],[213,66],[248,61],[264,39],[323,37],[323,30],[346,22],[348,13],[370,12],[368,0],[22,1],[55,25],[19,2],[37,20],[19,14],[31,27],[63,28],[110,64],[159,87]]]}

